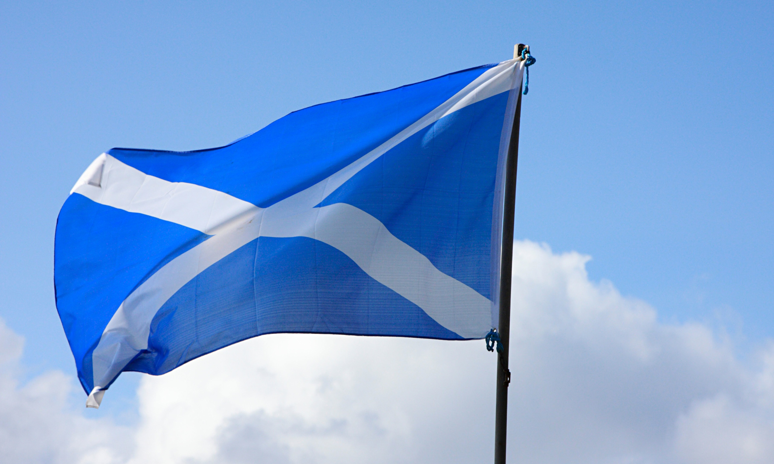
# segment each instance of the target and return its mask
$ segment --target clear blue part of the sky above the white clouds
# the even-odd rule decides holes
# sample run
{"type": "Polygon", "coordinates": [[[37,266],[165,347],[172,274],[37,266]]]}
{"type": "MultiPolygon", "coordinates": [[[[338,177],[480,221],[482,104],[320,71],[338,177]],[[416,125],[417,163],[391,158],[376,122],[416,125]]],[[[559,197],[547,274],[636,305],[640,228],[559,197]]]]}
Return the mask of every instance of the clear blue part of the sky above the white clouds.
{"type": "MultiPolygon", "coordinates": [[[[509,59],[515,234],[590,254],[666,322],[774,337],[770,2],[4,2],[0,316],[33,376],[74,370],[53,231],[112,147],[224,145],[301,107],[509,59]]],[[[132,384],[133,385],[133,384],[132,384]]]]}

